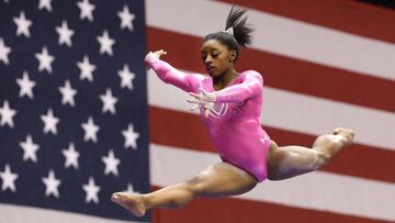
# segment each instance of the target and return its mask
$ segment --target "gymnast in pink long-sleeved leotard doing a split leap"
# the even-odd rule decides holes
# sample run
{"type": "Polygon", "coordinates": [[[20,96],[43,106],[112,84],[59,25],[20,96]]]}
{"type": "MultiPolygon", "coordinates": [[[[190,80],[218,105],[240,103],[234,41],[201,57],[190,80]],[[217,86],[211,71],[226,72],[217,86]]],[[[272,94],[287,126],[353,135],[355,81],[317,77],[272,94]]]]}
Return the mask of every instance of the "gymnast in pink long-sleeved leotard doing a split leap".
{"type": "Polygon", "coordinates": [[[179,185],[146,193],[115,192],[111,200],[136,216],[154,208],[180,208],[196,197],[230,197],[245,193],[264,179],[282,180],[325,166],[354,134],[335,129],[320,135],[312,148],[278,146],[260,124],[262,76],[255,70],[237,73],[235,63],[253,31],[246,24],[246,10],[232,8],[225,31],[203,40],[202,60],[208,76],[184,74],[159,59],[165,51],[149,52],[147,66],[165,82],[192,97],[222,161],[179,185]]]}

